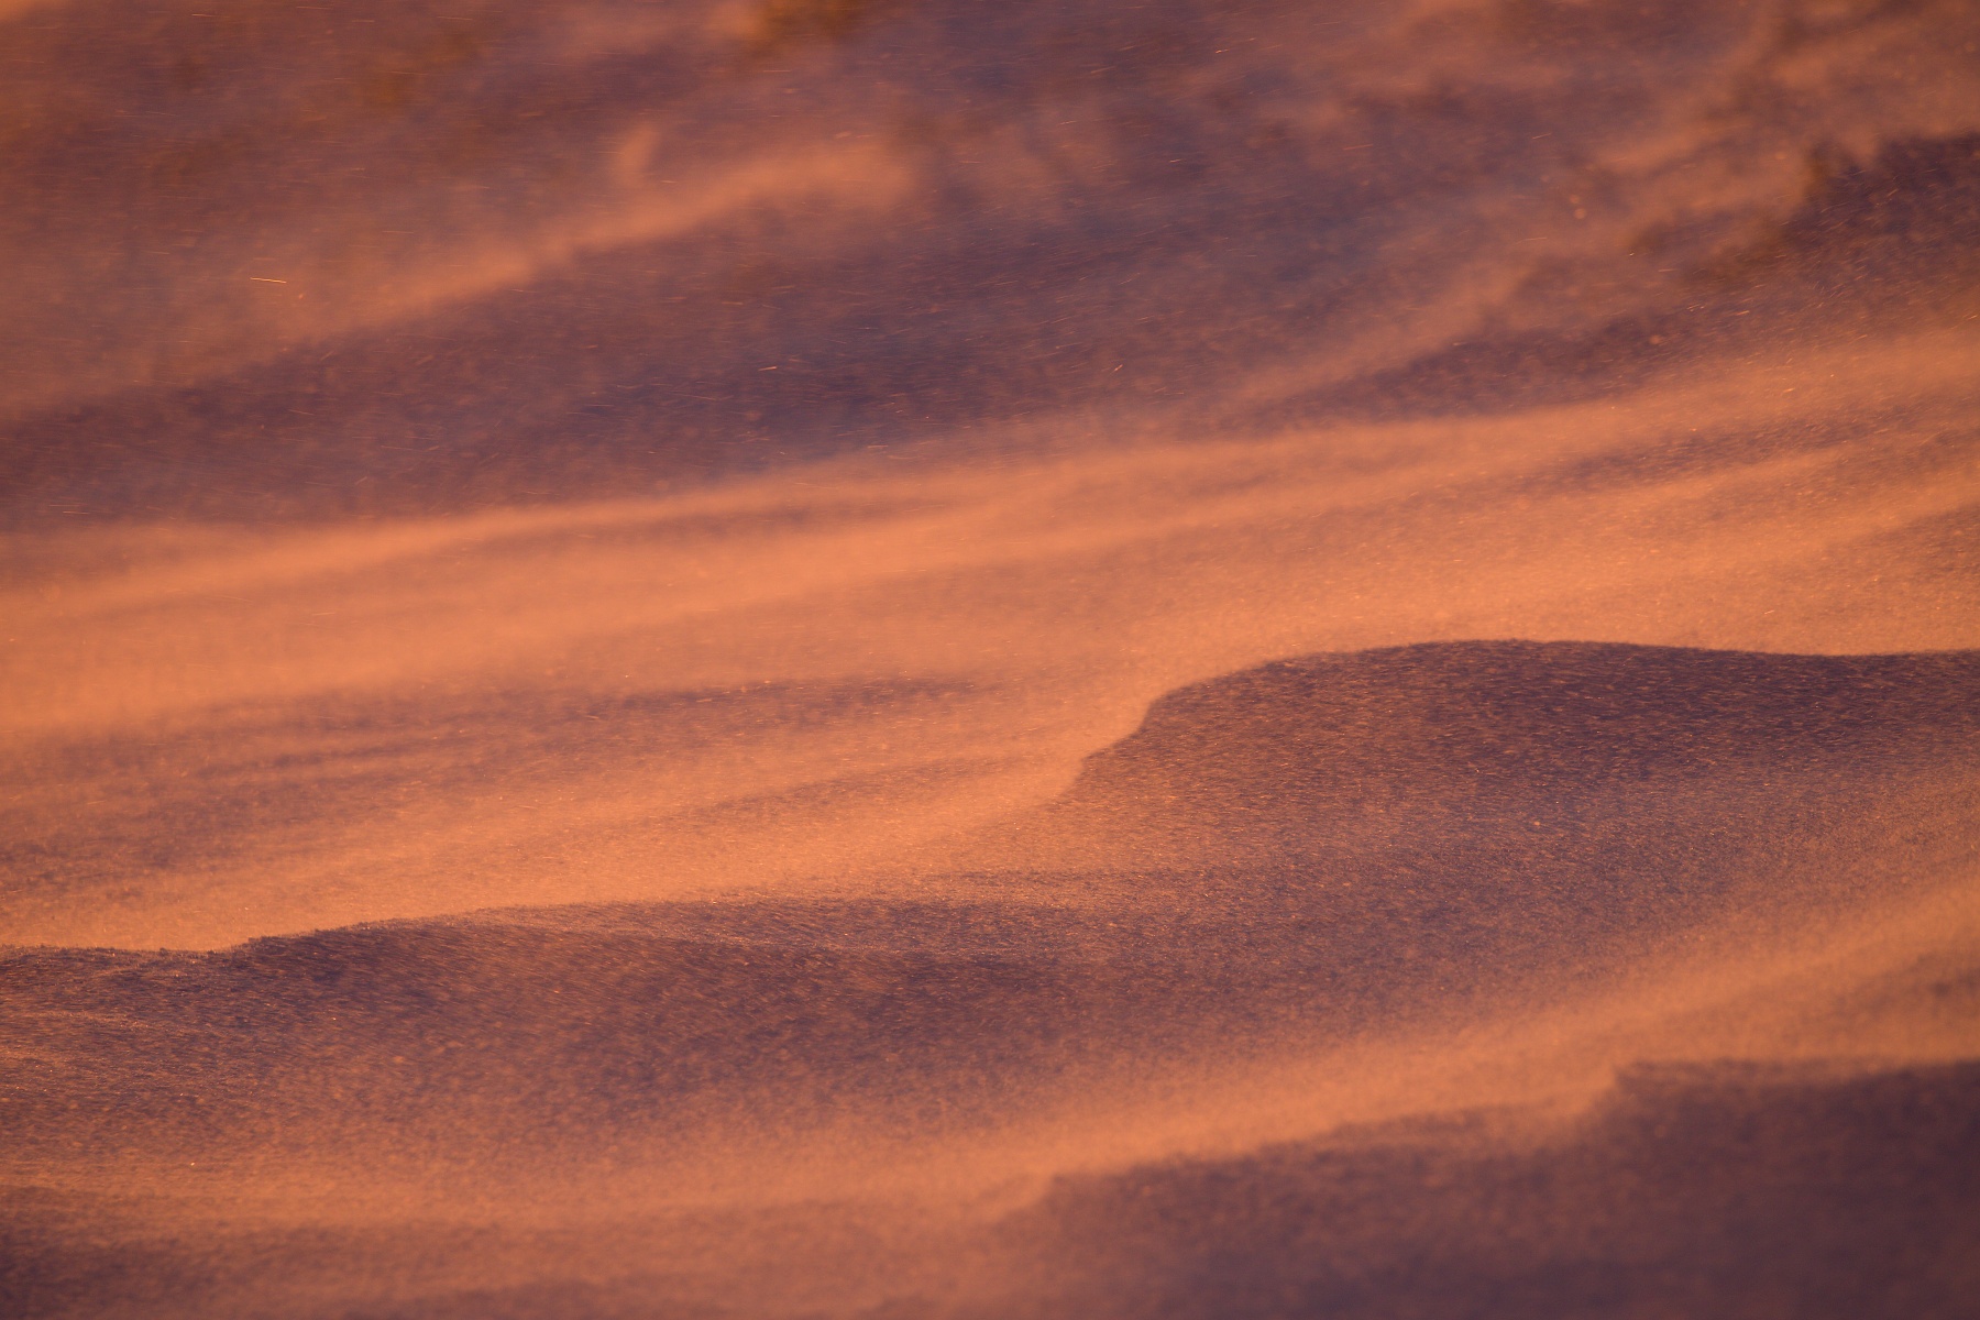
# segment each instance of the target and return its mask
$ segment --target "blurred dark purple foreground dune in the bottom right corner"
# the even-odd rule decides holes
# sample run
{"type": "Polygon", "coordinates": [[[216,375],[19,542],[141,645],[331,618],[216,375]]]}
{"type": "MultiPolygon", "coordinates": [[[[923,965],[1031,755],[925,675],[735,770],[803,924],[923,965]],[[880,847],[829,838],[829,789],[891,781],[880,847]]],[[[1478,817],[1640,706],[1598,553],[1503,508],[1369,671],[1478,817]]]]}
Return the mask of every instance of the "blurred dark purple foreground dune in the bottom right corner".
{"type": "Polygon", "coordinates": [[[998,1225],[1020,1288],[927,1314],[1950,1320],[1976,1114],[1974,1065],[1632,1071],[1544,1138],[1479,1116],[1069,1181],[998,1225]]]}

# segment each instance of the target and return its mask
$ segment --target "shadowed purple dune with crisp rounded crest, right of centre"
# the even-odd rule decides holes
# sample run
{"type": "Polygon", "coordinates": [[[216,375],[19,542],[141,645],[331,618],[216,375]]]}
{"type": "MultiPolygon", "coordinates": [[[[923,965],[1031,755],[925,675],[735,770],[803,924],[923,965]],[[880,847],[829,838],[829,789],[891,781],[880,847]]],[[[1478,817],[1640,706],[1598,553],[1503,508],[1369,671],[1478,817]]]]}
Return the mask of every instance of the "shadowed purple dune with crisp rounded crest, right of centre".
{"type": "MultiPolygon", "coordinates": [[[[1588,978],[1899,904],[1970,865],[1972,653],[1426,643],[1172,693],[994,827],[1069,900],[1336,1007],[1588,978]]],[[[1038,885],[1040,881],[1030,881],[1038,885]]]]}

